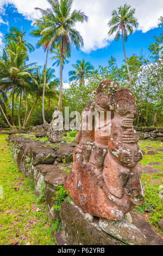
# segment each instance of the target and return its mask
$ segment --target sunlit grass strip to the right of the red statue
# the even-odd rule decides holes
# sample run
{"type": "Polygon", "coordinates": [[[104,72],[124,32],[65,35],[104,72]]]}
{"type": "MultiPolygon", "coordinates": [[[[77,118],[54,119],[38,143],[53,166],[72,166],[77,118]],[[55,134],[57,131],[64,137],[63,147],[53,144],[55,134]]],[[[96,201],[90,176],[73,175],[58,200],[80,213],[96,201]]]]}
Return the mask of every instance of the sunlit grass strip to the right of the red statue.
{"type": "Polygon", "coordinates": [[[140,214],[144,214],[146,220],[153,225],[153,228],[163,235],[163,230],[159,228],[158,222],[163,217],[163,152],[155,151],[163,147],[160,141],[140,141],[140,149],[146,152],[141,161],[142,167],[149,166],[148,163],[162,163],[162,165],[150,165],[159,169],[157,173],[142,174],[141,181],[145,188],[145,202],[143,206],[136,206],[140,214]],[[147,151],[154,150],[155,155],[148,155],[147,151]]]}

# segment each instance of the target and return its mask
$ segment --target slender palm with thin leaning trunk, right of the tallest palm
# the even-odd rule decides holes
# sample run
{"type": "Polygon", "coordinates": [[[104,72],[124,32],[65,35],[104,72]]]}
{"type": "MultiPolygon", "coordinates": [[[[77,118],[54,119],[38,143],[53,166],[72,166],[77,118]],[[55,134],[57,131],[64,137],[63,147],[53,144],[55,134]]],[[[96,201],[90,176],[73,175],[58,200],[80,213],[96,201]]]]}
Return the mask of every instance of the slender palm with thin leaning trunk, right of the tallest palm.
{"type": "Polygon", "coordinates": [[[108,23],[110,27],[108,34],[113,34],[114,32],[116,32],[115,39],[117,41],[120,39],[120,36],[122,35],[124,57],[126,60],[130,87],[132,89],[131,75],[130,75],[129,67],[127,64],[124,41],[127,41],[128,35],[133,33],[134,28],[136,28],[139,25],[139,23],[137,22],[137,19],[134,17],[135,9],[130,9],[130,8],[131,8],[130,5],[124,4],[124,6],[120,6],[118,8],[118,11],[117,10],[112,11],[112,19],[108,23]]]}

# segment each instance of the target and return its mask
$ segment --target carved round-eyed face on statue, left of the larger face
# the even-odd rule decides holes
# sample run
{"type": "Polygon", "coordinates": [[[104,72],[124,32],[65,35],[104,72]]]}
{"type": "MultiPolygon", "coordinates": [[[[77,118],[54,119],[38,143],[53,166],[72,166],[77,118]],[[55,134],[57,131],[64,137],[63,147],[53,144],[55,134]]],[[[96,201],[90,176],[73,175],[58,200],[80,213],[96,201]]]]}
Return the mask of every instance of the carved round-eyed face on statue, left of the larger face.
{"type": "Polygon", "coordinates": [[[96,97],[95,110],[100,111],[109,111],[110,105],[110,96],[108,93],[98,93],[96,97]]]}

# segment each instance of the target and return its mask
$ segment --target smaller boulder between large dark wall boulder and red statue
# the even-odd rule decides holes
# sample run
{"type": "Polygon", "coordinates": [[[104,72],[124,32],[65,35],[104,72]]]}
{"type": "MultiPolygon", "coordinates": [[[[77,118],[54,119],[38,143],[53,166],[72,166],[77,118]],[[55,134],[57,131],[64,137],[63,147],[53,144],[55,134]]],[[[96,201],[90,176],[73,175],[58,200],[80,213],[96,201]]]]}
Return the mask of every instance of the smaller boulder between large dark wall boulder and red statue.
{"type": "Polygon", "coordinates": [[[56,151],[56,156],[59,159],[65,159],[67,162],[73,161],[73,147],[70,145],[63,145],[56,151]]]}

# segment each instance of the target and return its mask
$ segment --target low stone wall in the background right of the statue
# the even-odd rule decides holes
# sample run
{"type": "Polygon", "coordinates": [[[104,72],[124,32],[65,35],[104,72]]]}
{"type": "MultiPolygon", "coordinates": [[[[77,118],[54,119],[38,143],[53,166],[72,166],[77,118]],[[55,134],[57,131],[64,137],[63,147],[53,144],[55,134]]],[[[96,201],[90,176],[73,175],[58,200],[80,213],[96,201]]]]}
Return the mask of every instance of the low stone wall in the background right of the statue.
{"type": "Polygon", "coordinates": [[[163,127],[134,127],[139,132],[139,139],[163,141],[163,127]]]}

